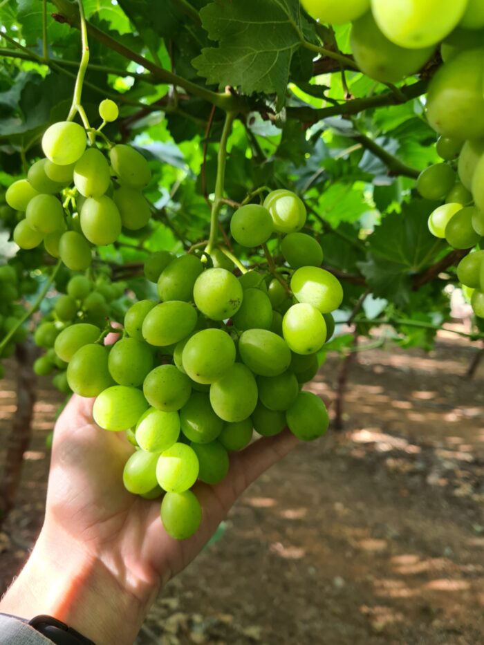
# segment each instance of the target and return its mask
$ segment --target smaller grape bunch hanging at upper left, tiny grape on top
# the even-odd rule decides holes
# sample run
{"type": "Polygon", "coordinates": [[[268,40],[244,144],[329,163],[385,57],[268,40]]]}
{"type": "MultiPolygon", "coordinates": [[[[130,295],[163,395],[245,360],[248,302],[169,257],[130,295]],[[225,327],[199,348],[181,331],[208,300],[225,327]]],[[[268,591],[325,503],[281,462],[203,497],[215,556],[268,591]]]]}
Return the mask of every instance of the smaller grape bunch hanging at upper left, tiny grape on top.
{"type": "MultiPolygon", "coordinates": [[[[99,111],[102,126],[118,117],[108,99],[99,111]]],[[[48,254],[73,271],[91,265],[93,246],[115,242],[123,229],[139,230],[151,215],[142,195],[151,177],[147,160],[124,144],[110,144],[108,160],[95,143],[100,129],[89,132],[88,147],[80,124],[54,123],[42,138],[45,157],[6,191],[7,205],[19,213],[17,245],[33,249],[43,242],[48,254]]]]}

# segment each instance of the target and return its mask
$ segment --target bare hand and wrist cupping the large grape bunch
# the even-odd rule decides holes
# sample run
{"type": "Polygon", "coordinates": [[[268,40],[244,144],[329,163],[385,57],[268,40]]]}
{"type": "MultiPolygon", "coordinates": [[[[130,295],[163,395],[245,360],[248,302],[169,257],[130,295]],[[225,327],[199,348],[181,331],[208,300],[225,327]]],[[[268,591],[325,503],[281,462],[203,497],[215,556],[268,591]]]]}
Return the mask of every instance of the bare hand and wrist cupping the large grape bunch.
{"type": "Polygon", "coordinates": [[[46,516],[0,611],[48,614],[96,645],[132,645],[167,581],[201,551],[241,493],[297,445],[289,431],[231,457],[227,478],[197,483],[203,521],[178,542],[163,530],[160,501],[128,493],[122,469],[133,446],[93,422],[93,399],[73,395],[55,427],[46,516]]]}

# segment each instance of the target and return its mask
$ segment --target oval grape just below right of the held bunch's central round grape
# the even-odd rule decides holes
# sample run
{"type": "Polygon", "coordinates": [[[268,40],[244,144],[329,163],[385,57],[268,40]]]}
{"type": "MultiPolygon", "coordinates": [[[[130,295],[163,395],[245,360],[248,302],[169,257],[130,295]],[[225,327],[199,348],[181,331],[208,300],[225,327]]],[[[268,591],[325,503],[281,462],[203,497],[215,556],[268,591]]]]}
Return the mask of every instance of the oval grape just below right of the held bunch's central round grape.
{"type": "Polygon", "coordinates": [[[257,405],[257,383],[250,369],[234,363],[210,386],[210,403],[224,421],[233,423],[248,418],[257,405]]]}

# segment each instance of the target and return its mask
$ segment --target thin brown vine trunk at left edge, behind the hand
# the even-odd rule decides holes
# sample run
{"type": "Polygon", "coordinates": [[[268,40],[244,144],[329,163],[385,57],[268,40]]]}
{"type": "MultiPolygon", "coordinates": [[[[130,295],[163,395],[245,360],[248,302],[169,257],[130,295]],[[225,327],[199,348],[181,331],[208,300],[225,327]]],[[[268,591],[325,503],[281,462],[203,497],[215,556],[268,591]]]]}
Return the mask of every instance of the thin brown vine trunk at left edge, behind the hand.
{"type": "Polygon", "coordinates": [[[17,345],[17,410],[6,442],[6,459],[0,481],[0,527],[15,504],[20,485],[24,452],[32,436],[32,417],[36,398],[35,373],[32,365],[37,348],[29,339],[17,345]]]}

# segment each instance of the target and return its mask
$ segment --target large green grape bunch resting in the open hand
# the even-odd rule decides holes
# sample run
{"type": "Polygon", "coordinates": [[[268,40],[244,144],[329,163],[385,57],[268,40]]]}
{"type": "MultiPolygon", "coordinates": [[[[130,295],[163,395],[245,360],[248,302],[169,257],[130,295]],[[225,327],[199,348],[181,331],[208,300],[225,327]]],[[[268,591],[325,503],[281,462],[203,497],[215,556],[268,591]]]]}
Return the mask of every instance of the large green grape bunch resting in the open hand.
{"type": "Polygon", "coordinates": [[[147,498],[163,495],[162,523],[176,539],[192,536],[201,522],[196,481],[221,482],[230,451],[246,447],[253,430],[272,436],[288,426],[313,440],[328,427],[324,402],[301,386],[317,373],[343,291],[320,268],[319,243],[299,232],[305,221],[294,193],[272,191],[263,204],[239,207],[230,222],[257,268],[240,264],[236,277],[220,248],[201,257],[160,251],[145,263],[160,302],[134,303],[115,344],[105,346],[89,323],[55,339],[68,386],[95,397],[95,422],[125,431],[136,447],[124,486],[147,498]],[[279,248],[279,265],[269,241],[279,248]]]}

